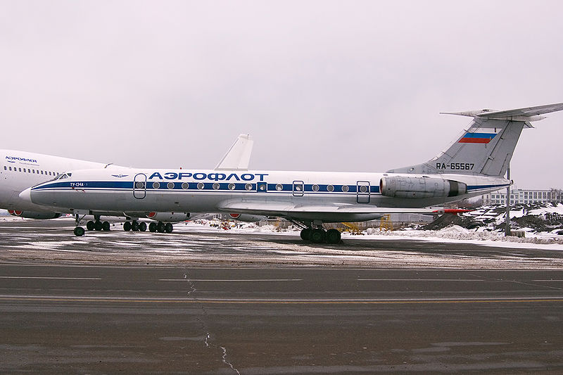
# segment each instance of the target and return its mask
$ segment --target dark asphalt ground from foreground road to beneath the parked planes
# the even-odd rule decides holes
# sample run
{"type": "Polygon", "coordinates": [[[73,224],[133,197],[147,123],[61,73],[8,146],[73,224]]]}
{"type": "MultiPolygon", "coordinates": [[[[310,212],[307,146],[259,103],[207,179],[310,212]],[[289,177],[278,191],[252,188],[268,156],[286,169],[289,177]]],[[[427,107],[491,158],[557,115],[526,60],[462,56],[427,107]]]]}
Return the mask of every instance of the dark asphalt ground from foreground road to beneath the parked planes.
{"type": "Polygon", "coordinates": [[[563,270],[545,267],[557,252],[501,248],[486,257],[485,247],[415,241],[401,250],[391,241],[387,250],[408,262],[292,265],[267,241],[244,250],[254,235],[184,234],[199,252],[231,248],[254,260],[201,265],[192,253],[178,260],[174,234],[141,234],[163,257],[146,265],[145,246],[129,246],[129,234],[84,241],[50,225],[0,224],[1,374],[563,372],[563,270]],[[96,261],[110,249],[119,256],[96,261]],[[483,265],[491,256],[510,265],[501,260],[524,252],[514,265],[527,266],[408,267],[426,251],[487,258],[483,265]],[[67,253],[80,262],[57,255],[67,253]]]}

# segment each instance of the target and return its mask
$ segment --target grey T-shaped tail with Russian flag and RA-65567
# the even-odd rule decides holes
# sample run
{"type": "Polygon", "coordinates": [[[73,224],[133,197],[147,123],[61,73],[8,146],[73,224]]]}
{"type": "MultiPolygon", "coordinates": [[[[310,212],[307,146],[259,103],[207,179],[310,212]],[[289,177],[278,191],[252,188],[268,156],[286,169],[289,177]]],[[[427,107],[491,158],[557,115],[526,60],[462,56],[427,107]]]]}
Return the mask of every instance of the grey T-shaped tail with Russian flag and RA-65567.
{"type": "Polygon", "coordinates": [[[504,176],[522,129],[543,120],[545,113],[563,110],[563,103],[514,110],[472,110],[445,113],[473,117],[469,129],[441,155],[426,163],[389,170],[389,173],[478,174],[504,176]]]}

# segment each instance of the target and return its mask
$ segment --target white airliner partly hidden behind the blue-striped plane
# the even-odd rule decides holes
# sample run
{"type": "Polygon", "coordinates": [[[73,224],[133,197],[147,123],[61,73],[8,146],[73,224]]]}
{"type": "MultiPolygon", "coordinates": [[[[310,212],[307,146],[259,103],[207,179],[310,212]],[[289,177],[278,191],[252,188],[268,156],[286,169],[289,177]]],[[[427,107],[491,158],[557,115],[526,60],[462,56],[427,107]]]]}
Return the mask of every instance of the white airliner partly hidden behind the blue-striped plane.
{"type": "MultiPolygon", "coordinates": [[[[240,134],[232,144],[229,151],[215,167],[216,170],[247,170],[253,148],[253,140],[248,134],[240,134]]],[[[37,205],[20,198],[19,194],[30,186],[37,185],[46,180],[53,180],[61,176],[61,172],[73,169],[106,169],[113,174],[126,173],[129,168],[113,165],[112,163],[96,163],[87,160],[63,158],[41,153],[30,153],[26,151],[0,150],[0,158],[3,164],[0,167],[0,208],[8,210],[11,215],[29,219],[55,219],[62,214],[74,214],[67,208],[45,205],[37,205]]],[[[89,230],[109,230],[108,221],[101,222],[100,217],[114,216],[125,217],[127,221],[124,229],[145,231],[147,225],[137,222],[139,217],[146,217],[156,222],[148,224],[150,231],[161,231],[170,233],[172,222],[187,220],[187,212],[122,212],[115,210],[100,210],[89,212],[94,220],[87,222],[89,230]],[[133,220],[132,222],[129,220],[133,220]]],[[[253,217],[242,217],[240,220],[254,219],[253,217]]]]}

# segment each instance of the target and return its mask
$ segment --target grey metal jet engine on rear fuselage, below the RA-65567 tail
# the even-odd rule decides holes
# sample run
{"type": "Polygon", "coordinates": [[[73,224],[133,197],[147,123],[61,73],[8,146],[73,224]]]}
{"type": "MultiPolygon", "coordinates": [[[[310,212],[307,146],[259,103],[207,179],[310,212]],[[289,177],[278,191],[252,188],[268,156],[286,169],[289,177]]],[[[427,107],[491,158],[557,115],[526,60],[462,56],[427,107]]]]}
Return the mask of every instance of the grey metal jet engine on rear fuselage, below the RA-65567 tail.
{"type": "Polygon", "coordinates": [[[379,191],[381,195],[393,198],[442,198],[467,193],[467,185],[431,177],[383,177],[379,191]]]}

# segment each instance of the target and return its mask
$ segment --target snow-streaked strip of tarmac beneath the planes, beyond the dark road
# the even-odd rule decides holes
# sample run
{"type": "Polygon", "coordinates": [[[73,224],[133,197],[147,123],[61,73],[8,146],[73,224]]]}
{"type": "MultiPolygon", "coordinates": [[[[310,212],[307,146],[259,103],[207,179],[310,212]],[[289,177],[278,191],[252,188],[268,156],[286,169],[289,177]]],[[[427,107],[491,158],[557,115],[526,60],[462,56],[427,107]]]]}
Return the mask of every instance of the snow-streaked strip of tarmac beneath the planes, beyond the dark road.
{"type": "Polygon", "coordinates": [[[176,224],[172,234],[111,231],[72,234],[74,220],[0,220],[0,262],[91,262],[139,265],[315,265],[324,267],[563,269],[563,245],[343,236],[336,245],[307,243],[298,233],[236,233],[176,224]]]}

